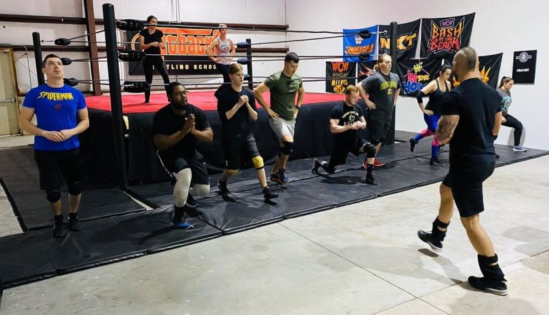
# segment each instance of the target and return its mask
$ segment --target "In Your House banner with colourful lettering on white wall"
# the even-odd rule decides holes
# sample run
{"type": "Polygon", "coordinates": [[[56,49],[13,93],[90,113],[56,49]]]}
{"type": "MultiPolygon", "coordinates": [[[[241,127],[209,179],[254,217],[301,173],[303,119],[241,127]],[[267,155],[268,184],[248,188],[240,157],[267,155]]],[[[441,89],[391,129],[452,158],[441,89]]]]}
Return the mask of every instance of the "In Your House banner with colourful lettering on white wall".
{"type": "Polygon", "coordinates": [[[415,97],[425,85],[436,78],[442,65],[443,60],[436,58],[399,60],[395,72],[400,76],[400,95],[415,97]]]}

